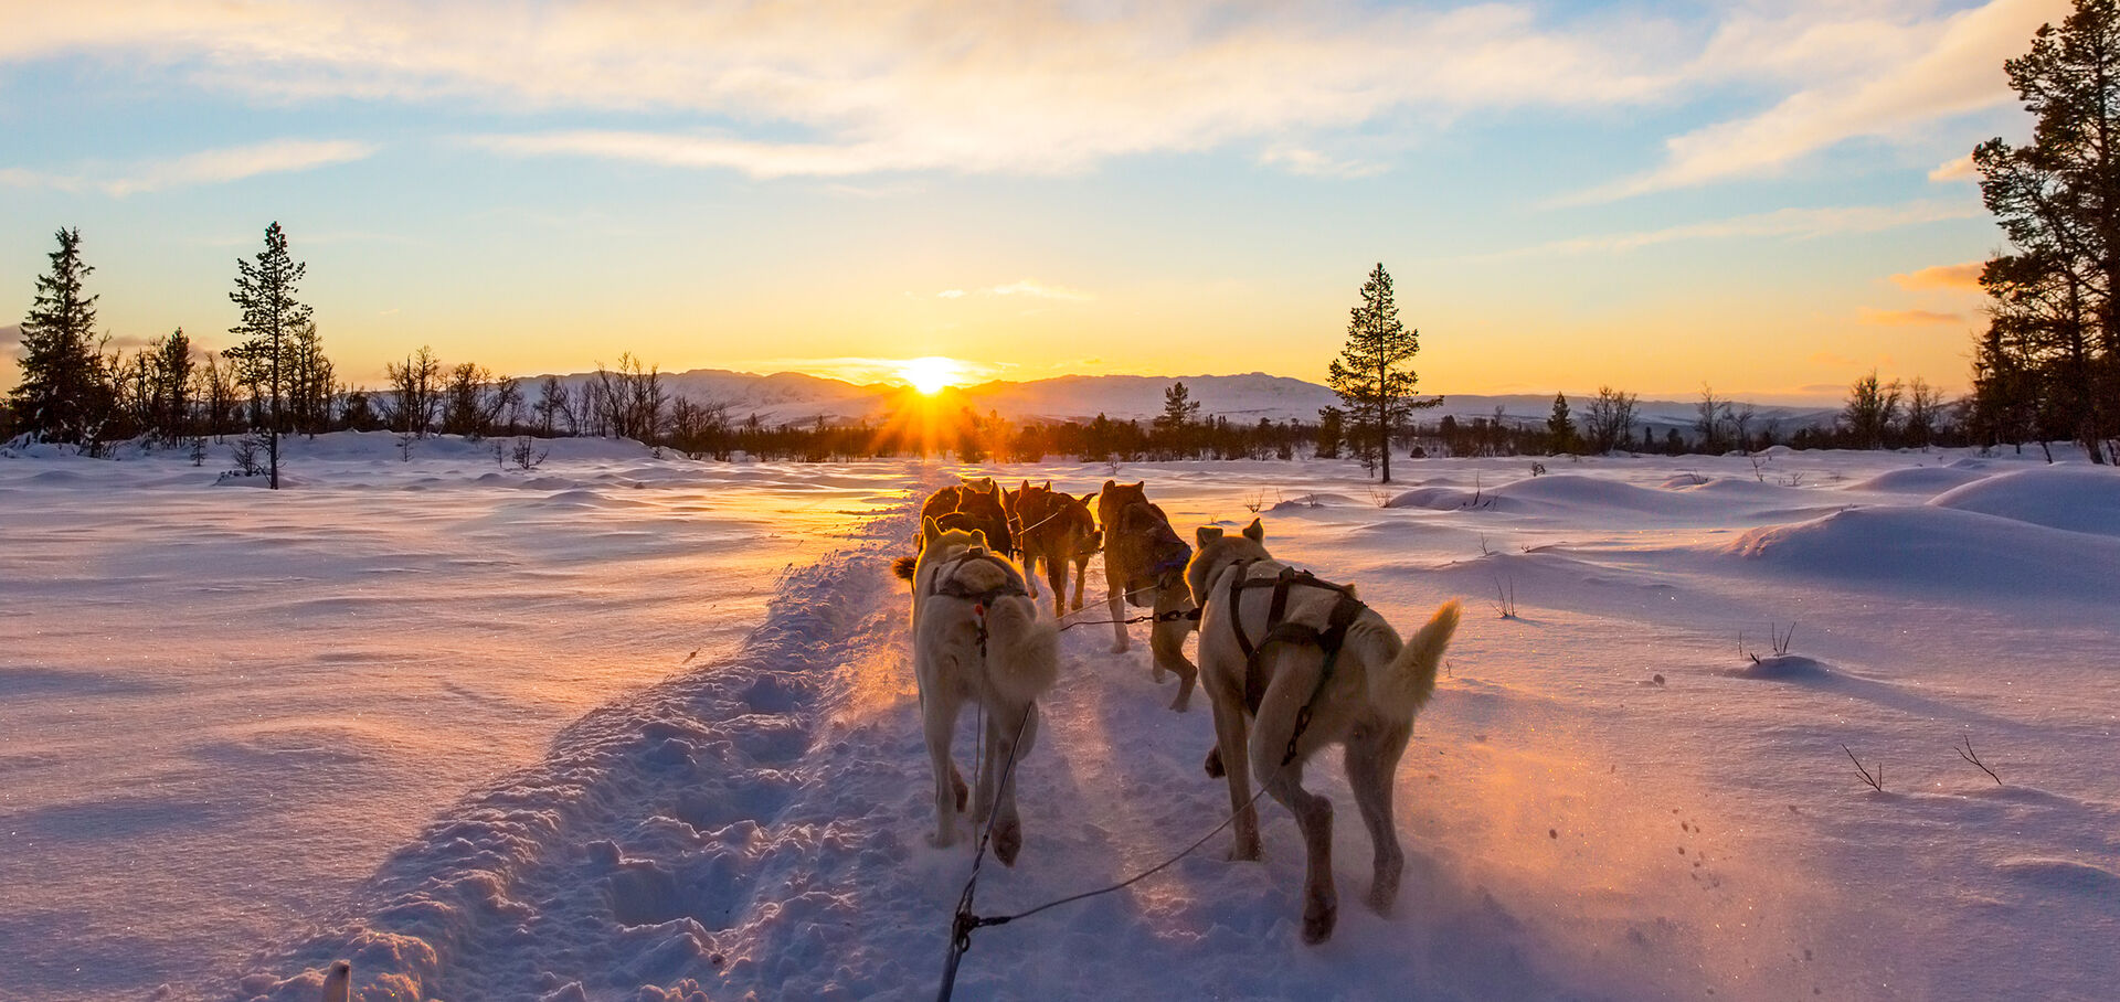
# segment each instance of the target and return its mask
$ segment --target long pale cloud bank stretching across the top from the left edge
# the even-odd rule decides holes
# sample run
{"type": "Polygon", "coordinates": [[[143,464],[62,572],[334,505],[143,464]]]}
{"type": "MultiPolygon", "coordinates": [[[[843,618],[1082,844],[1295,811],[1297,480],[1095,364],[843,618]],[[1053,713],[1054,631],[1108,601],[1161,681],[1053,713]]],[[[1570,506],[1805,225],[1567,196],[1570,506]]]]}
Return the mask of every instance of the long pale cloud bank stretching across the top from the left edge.
{"type": "MultiPolygon", "coordinates": [[[[371,100],[649,112],[668,129],[502,131],[519,157],[753,176],[1068,174],[1225,144],[1293,172],[1380,165],[1283,148],[1370,123],[1607,108],[1677,87],[1677,28],[1637,15],[1204,2],[17,4],[0,66],[87,57],[248,102],[371,100]],[[721,129],[721,131],[710,131],[721,129]]],[[[579,117],[577,117],[579,119],[579,117]]],[[[594,121],[594,119],[591,119],[594,121]]],[[[630,119],[638,123],[640,119],[630,119]]]]}

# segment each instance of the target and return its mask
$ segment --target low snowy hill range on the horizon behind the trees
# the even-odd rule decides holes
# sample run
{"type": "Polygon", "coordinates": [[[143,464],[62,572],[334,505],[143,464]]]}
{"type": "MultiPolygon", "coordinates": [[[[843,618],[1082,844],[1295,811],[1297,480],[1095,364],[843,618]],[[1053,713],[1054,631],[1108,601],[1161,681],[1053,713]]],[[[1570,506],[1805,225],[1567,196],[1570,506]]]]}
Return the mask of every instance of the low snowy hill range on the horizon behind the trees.
{"type": "MultiPolygon", "coordinates": [[[[536,394],[543,377],[524,379],[524,392],[536,394]]],[[[587,373],[562,375],[568,383],[583,383],[587,373]]],[[[818,417],[827,422],[873,419],[888,413],[893,400],[905,394],[903,386],[867,383],[856,386],[846,379],[827,379],[803,373],[731,373],[727,369],[693,369],[687,373],[664,373],[664,386],[672,396],[687,396],[695,402],[727,402],[731,417],[757,413],[767,424],[810,424],[818,417]]],[[[1202,415],[1219,415],[1230,422],[1253,424],[1259,417],[1287,422],[1317,422],[1321,407],[1333,407],[1340,398],[1319,386],[1287,375],[1242,373],[1242,375],[1062,375],[1056,379],[990,381],[948,390],[941,398],[946,407],[971,407],[973,411],[994,411],[1011,419],[1090,419],[1107,415],[1111,419],[1147,419],[1164,409],[1164,390],[1170,383],[1185,383],[1194,400],[1200,400],[1202,415]]],[[[1586,398],[1569,398],[1577,419],[1586,398]]],[[[1552,413],[1550,394],[1446,394],[1444,405],[1425,411],[1423,419],[1442,415],[1492,417],[1501,409],[1505,422],[1543,424],[1552,413]]],[[[1743,402],[1741,402],[1743,407],[1743,402]]],[[[1641,400],[1635,405],[1641,424],[1662,434],[1664,428],[1692,428],[1692,400],[1641,400]]],[[[1755,405],[1755,428],[1779,422],[1787,434],[1804,426],[1832,424],[1832,407],[1779,407],[1755,405]]]]}

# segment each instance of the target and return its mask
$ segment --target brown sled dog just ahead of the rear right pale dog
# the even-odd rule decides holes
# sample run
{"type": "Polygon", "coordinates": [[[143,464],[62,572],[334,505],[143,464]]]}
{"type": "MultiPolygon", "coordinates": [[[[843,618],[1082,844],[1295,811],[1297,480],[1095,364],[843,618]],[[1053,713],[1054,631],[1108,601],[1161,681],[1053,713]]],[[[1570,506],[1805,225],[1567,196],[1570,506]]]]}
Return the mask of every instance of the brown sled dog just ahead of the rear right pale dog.
{"type": "MultiPolygon", "coordinates": [[[[1185,614],[1196,608],[1185,593],[1185,561],[1191,549],[1141,487],[1141,481],[1105,481],[1105,489],[1096,494],[1096,521],[1105,527],[1105,583],[1111,587],[1105,602],[1113,621],[1126,619],[1121,600],[1155,612],[1158,619],[1149,623],[1153,678],[1162,682],[1164,672],[1179,676],[1179,695],[1170,701],[1170,710],[1183,712],[1200,676],[1185,659],[1185,633],[1194,629],[1185,614]]],[[[1111,652],[1124,655],[1126,623],[1113,623],[1111,638],[1111,652]]]]}

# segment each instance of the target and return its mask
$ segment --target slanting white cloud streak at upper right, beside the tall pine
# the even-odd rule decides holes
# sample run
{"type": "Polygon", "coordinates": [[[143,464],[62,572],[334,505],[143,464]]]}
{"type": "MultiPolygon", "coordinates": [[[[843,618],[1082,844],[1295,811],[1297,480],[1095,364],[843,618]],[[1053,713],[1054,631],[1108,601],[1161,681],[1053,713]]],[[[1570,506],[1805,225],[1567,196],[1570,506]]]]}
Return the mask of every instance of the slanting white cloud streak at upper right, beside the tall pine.
{"type": "MultiPolygon", "coordinates": [[[[1938,119],[2010,104],[2014,95],[2001,74],[2003,59],[2020,55],[2042,21],[2059,21],[2067,13],[2067,0],[1991,0],[1942,19],[1908,21],[1897,30],[1853,21],[1840,34],[1821,36],[1813,30],[1796,40],[1774,40],[1766,44],[1766,55],[1755,57],[1755,66],[1777,66],[1777,44],[1783,53],[1798,51],[1787,57],[1798,68],[1849,61],[1842,72],[1827,72],[1764,112],[1675,136],[1664,142],[1662,165],[1567,201],[1613,201],[1768,176],[1847,140],[1897,138],[1938,119]],[[1844,38],[1874,44],[1876,51],[1870,59],[1851,59],[1857,49],[1838,44],[1844,38]],[[1819,47],[1838,55],[1804,55],[1819,47]]],[[[1741,53],[1747,49],[1745,42],[1730,47],[1741,53]]]]}

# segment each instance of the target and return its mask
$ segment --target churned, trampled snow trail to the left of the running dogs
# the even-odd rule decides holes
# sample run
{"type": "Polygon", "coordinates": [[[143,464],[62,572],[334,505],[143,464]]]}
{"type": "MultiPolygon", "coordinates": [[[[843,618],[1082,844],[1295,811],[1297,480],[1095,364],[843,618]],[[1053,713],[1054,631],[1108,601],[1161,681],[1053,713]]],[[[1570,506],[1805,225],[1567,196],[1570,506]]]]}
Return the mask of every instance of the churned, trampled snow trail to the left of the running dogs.
{"type": "Polygon", "coordinates": [[[833,909],[782,879],[799,866],[780,856],[846,847],[829,809],[801,809],[818,782],[806,754],[844,695],[837,669],[901,629],[884,555],[909,517],[782,572],[734,657],[591,712],[543,763],[445,811],[235,998],[314,1000],[337,958],[369,1002],[687,998],[691,979],[753,970],[791,911],[833,909]]]}

